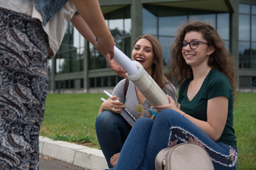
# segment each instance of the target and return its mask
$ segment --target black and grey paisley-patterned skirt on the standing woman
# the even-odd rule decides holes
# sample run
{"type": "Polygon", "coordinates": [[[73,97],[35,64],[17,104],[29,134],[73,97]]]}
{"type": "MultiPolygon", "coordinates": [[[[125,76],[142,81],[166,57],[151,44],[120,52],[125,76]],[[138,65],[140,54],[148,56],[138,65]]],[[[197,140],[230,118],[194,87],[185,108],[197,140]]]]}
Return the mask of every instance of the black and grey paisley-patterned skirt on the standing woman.
{"type": "Polygon", "coordinates": [[[38,169],[47,48],[40,21],[0,8],[0,169],[38,169]]]}

